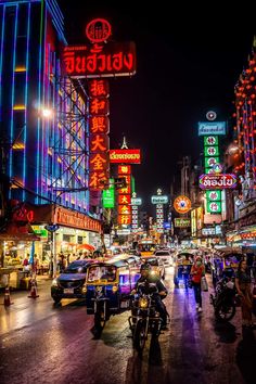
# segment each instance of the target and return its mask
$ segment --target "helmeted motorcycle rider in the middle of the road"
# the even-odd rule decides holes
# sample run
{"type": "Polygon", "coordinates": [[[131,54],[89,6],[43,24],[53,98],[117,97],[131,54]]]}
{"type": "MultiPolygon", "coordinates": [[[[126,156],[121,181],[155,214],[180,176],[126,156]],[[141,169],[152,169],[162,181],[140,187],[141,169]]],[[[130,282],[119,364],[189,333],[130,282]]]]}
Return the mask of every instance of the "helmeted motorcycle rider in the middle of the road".
{"type": "Polygon", "coordinates": [[[159,316],[163,320],[162,329],[166,329],[168,313],[166,310],[166,306],[163,303],[163,299],[167,296],[168,292],[164,283],[161,281],[159,277],[151,272],[152,272],[151,265],[146,263],[142,264],[140,268],[141,277],[137,281],[136,287],[135,290],[131,291],[131,294],[133,295],[135,293],[138,292],[138,286],[141,282],[154,283],[157,289],[157,293],[154,295],[155,308],[159,312],[159,316]]]}

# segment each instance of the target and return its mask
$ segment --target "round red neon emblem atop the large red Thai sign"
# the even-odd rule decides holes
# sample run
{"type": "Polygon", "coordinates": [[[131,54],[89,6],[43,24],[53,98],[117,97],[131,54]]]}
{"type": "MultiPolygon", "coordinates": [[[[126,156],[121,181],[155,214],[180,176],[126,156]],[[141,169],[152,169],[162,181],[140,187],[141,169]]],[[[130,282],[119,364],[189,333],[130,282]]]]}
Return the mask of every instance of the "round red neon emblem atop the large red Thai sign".
{"type": "Polygon", "coordinates": [[[106,41],[111,36],[111,24],[105,18],[93,18],[86,27],[86,36],[91,42],[106,41]]]}

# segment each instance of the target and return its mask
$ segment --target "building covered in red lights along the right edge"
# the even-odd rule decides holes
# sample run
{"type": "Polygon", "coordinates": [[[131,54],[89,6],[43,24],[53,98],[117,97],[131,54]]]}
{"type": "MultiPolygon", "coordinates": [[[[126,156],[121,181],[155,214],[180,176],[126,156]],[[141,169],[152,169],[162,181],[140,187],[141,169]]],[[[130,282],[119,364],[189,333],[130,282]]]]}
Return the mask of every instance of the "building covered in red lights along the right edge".
{"type": "Polygon", "coordinates": [[[256,240],[256,41],[248,63],[234,87],[235,124],[233,142],[227,149],[227,166],[239,179],[239,189],[230,193],[233,220],[229,222],[230,245],[255,246],[256,240]],[[230,231],[232,229],[232,231],[230,231]]]}

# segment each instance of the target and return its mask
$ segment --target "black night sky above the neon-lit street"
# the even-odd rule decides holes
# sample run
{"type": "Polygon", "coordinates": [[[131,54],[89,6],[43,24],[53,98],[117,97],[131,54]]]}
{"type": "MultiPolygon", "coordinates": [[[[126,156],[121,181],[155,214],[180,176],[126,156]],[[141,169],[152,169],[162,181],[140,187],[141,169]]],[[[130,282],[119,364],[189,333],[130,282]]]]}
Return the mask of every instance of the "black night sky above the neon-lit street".
{"type": "Polygon", "coordinates": [[[217,2],[171,9],[164,1],[154,2],[157,8],[138,0],[57,1],[69,43],[87,42],[85,26],[95,17],[112,24],[113,41],[136,42],[137,74],[110,79],[110,138],[112,149],[124,135],[130,148],[141,149],[133,175],[138,196],[149,206],[157,188],[169,193],[182,156],[200,156],[197,121],[205,113],[215,110],[229,120],[234,112],[233,88],[256,35],[254,13],[225,12],[217,2]]]}

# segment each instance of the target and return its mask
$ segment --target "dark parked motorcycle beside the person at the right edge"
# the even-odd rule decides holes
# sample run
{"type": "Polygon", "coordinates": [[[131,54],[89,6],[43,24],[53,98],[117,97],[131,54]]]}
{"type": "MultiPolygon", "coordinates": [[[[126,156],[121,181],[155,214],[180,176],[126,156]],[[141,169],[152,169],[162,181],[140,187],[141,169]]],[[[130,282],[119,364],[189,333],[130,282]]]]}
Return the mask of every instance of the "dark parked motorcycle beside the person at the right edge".
{"type": "Polygon", "coordinates": [[[217,320],[230,321],[239,305],[233,278],[222,278],[217,282],[215,295],[210,294],[210,304],[217,320]]]}

